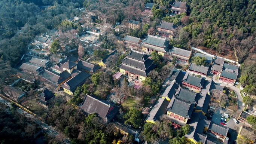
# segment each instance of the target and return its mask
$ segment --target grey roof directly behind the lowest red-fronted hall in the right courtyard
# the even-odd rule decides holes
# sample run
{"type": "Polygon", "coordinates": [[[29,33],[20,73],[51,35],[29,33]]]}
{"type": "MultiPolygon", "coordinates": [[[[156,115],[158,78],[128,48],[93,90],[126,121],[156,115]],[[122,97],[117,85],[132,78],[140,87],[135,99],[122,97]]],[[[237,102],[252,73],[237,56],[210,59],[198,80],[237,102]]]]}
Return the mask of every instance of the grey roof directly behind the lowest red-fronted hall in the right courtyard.
{"type": "Polygon", "coordinates": [[[199,99],[199,94],[188,89],[181,88],[179,94],[176,97],[183,99],[187,102],[196,103],[199,99]]]}

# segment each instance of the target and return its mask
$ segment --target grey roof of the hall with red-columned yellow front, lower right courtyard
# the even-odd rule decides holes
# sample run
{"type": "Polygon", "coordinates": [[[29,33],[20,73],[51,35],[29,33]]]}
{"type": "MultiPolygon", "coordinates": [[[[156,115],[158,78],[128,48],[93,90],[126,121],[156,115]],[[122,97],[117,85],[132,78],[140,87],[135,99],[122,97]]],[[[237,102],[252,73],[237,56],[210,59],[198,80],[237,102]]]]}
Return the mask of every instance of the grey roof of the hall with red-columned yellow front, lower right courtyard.
{"type": "Polygon", "coordinates": [[[178,114],[179,116],[190,119],[194,106],[195,104],[183,101],[182,99],[172,98],[167,110],[178,114]]]}

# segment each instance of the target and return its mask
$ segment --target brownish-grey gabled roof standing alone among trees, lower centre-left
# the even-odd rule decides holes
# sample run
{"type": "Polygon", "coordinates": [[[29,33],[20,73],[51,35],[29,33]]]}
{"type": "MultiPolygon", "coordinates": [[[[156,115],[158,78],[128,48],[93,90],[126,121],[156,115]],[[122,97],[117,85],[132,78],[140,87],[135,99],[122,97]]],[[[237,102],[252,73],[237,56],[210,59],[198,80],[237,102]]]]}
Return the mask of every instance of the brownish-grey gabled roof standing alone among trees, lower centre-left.
{"type": "Polygon", "coordinates": [[[80,106],[86,113],[96,113],[105,122],[110,122],[118,113],[119,108],[96,96],[86,95],[83,104],[80,106]]]}

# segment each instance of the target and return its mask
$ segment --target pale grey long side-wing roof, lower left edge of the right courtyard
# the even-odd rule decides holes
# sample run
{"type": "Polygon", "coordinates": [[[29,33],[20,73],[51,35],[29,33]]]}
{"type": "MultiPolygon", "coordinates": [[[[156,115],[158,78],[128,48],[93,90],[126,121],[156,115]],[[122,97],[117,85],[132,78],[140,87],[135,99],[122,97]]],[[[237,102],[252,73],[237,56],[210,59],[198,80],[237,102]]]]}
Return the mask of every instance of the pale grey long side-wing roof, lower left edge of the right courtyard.
{"type": "Polygon", "coordinates": [[[156,101],[155,106],[150,111],[149,115],[147,116],[146,120],[160,120],[160,116],[167,112],[166,108],[170,102],[167,101],[165,98],[159,98],[156,101]]]}

